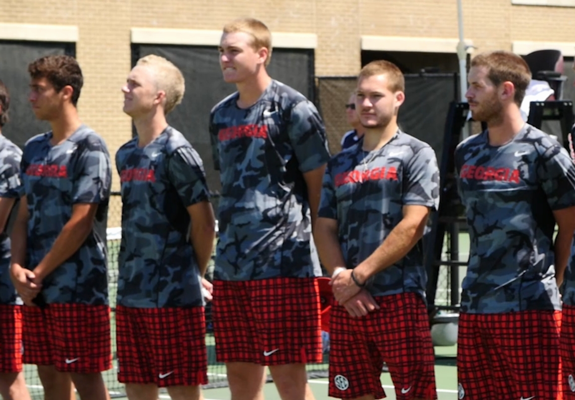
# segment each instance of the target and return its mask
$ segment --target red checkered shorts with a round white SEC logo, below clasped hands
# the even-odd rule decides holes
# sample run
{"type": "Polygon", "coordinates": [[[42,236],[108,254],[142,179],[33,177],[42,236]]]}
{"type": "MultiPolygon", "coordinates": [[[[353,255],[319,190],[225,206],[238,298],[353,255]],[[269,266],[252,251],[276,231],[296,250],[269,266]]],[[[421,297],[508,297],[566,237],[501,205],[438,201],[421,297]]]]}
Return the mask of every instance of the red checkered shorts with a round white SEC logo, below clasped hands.
{"type": "Polygon", "coordinates": [[[386,397],[381,368],[389,367],[396,398],[436,399],[434,350],[425,304],[415,293],[377,296],[381,307],[353,318],[340,304],[329,319],[329,396],[386,397]]]}

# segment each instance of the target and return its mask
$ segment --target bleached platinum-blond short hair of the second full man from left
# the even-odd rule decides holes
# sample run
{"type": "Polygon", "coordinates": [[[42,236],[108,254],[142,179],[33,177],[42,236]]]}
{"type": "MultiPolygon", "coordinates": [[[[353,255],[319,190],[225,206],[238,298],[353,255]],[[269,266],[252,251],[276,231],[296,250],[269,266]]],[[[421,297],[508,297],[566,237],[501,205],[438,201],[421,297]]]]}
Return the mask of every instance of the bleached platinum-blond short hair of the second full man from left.
{"type": "Polygon", "coordinates": [[[186,91],[182,71],[167,59],[154,54],[140,58],[136,66],[151,68],[154,71],[154,81],[158,90],[166,93],[164,113],[168,115],[182,102],[186,91]]]}

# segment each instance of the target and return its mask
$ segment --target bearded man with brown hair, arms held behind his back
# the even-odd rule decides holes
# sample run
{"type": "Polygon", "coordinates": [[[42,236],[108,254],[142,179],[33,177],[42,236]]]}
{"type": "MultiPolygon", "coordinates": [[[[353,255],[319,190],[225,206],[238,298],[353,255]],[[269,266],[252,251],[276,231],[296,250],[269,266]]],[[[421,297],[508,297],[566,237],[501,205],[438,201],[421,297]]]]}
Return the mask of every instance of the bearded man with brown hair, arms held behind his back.
{"type": "Polygon", "coordinates": [[[487,129],[455,150],[470,234],[460,399],[555,400],[562,392],[558,285],[575,231],[575,165],[557,141],[524,123],[519,107],[530,79],[511,52],[471,60],[466,97],[487,129]]]}

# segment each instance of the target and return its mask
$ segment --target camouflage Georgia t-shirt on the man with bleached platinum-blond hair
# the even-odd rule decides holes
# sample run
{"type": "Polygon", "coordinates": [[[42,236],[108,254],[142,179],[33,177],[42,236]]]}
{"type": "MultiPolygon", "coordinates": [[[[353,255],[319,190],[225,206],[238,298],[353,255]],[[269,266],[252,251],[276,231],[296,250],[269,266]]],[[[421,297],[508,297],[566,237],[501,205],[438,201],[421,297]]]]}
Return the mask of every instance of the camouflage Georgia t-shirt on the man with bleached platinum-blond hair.
{"type": "Polygon", "coordinates": [[[145,147],[138,138],[116,153],[122,193],[118,304],[201,306],[200,272],[186,207],[208,200],[196,150],[171,127],[145,147]]]}

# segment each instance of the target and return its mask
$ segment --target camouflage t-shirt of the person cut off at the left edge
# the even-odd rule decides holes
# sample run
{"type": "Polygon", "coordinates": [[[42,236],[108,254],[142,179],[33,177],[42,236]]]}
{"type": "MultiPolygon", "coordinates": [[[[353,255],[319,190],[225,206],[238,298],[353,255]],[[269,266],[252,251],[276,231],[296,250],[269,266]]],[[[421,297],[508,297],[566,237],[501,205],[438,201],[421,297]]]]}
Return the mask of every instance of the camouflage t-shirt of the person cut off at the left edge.
{"type": "MultiPolygon", "coordinates": [[[[0,197],[19,199],[22,195],[21,159],[20,147],[0,135],[0,197]]],[[[0,234],[0,304],[22,304],[10,280],[10,237],[6,227],[0,234]]]]}

